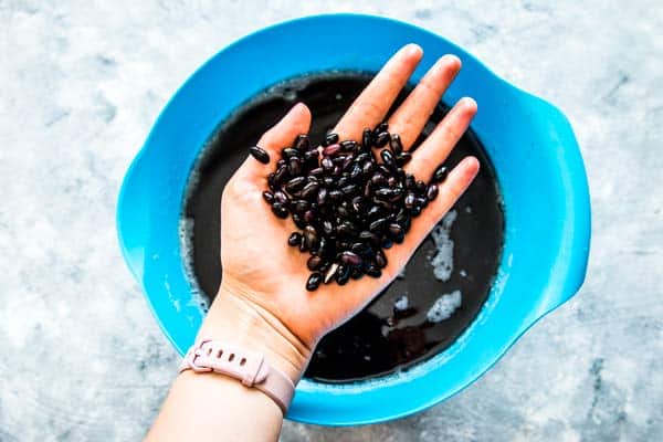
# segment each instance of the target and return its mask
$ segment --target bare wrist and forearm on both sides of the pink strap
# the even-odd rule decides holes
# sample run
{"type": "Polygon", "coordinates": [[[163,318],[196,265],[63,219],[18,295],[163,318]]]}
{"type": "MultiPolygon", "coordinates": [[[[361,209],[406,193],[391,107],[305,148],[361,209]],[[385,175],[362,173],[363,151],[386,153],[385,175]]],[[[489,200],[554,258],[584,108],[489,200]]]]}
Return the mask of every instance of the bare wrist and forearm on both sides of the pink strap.
{"type": "MultiPolygon", "coordinates": [[[[297,382],[309,352],[269,313],[220,290],[199,332],[209,338],[262,352],[297,382]]],[[[218,373],[182,372],[147,441],[276,441],[283,413],[266,394],[218,373]]]]}

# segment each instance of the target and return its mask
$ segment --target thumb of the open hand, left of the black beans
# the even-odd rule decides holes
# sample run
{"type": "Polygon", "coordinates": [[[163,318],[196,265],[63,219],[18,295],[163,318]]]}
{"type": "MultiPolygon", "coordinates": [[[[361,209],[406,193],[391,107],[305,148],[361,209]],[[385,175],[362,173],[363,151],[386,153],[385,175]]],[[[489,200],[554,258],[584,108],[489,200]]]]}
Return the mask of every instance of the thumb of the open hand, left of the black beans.
{"type": "Polygon", "coordinates": [[[304,103],[294,105],[278,123],[272,126],[257,141],[257,146],[270,156],[270,162],[264,165],[249,156],[241,169],[251,176],[264,177],[274,170],[281,158],[281,150],[291,147],[297,135],[307,134],[311,128],[311,110],[304,103]]]}

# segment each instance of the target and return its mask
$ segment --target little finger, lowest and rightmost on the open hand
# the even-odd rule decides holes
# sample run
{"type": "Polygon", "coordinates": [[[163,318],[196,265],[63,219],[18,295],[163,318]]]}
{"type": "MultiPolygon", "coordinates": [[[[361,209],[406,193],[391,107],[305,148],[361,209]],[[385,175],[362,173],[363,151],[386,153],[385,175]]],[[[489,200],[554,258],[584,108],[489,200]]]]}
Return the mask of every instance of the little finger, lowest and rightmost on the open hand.
{"type": "Polygon", "coordinates": [[[388,275],[396,275],[407,264],[419,244],[430,231],[444,218],[453,204],[465,192],[478,173],[478,160],[474,157],[464,158],[453,168],[444,183],[440,185],[438,197],[431,201],[418,218],[412,219],[410,232],[400,245],[394,245],[387,252],[389,263],[385,269],[388,275]],[[393,256],[390,253],[393,251],[393,256]]]}

